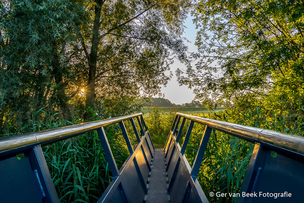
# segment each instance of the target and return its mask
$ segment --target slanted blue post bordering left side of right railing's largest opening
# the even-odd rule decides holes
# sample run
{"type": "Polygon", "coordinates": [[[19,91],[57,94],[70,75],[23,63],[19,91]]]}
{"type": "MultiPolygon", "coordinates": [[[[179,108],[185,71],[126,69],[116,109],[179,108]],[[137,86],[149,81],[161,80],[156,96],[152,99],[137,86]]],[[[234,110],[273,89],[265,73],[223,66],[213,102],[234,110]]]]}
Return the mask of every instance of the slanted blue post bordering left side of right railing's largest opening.
{"type": "Polygon", "coordinates": [[[201,138],[201,141],[199,144],[199,148],[198,148],[195,160],[194,160],[194,164],[193,164],[193,167],[191,170],[191,177],[193,178],[193,180],[195,180],[197,177],[199,167],[200,167],[202,158],[204,158],[204,154],[205,154],[205,151],[207,148],[207,144],[208,144],[211,132],[212,132],[212,129],[208,125],[206,125],[205,131],[204,131],[204,134],[202,135],[202,138],[201,138]]]}

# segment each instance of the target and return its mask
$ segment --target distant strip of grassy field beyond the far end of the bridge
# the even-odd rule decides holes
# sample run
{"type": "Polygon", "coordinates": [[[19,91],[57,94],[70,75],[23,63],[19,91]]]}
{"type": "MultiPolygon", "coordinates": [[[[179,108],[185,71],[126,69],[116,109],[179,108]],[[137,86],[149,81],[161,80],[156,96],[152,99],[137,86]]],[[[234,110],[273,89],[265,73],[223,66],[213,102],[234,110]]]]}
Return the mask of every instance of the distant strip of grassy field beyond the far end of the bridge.
{"type": "Polygon", "coordinates": [[[149,113],[153,110],[158,110],[160,112],[172,112],[172,113],[176,113],[176,112],[180,112],[180,113],[185,113],[185,114],[197,114],[197,116],[199,115],[203,115],[203,114],[208,114],[208,113],[214,113],[214,112],[219,112],[219,111],[223,111],[225,110],[225,108],[216,108],[215,111],[214,110],[208,110],[204,107],[144,107],[142,109],[142,112],[144,114],[149,113]]]}

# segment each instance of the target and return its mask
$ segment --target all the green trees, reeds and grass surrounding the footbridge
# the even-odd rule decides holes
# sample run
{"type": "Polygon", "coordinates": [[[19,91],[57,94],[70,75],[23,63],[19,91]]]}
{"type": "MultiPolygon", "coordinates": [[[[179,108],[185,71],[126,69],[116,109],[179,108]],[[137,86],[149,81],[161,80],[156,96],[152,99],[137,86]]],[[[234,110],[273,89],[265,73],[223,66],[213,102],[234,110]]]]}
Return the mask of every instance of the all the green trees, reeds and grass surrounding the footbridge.
{"type": "MultiPolygon", "coordinates": [[[[292,0],[2,0],[0,137],[140,111],[156,147],[176,111],[302,136],[303,7],[292,0]],[[190,10],[199,30],[198,53],[189,55],[181,36],[190,10]],[[176,74],[195,100],[148,103],[172,77],[174,59],[186,65],[176,74]]],[[[190,164],[203,131],[194,125],[190,164]]],[[[120,167],[128,151],[119,126],[106,133],[120,167]]],[[[95,202],[111,181],[96,133],[43,151],[61,202],[95,202]]],[[[198,176],[204,191],[240,191],[251,152],[252,144],[213,131],[198,176]]]]}

